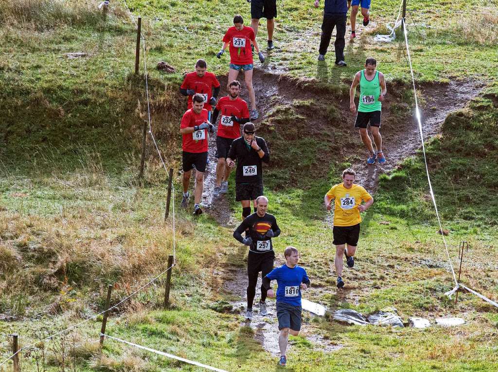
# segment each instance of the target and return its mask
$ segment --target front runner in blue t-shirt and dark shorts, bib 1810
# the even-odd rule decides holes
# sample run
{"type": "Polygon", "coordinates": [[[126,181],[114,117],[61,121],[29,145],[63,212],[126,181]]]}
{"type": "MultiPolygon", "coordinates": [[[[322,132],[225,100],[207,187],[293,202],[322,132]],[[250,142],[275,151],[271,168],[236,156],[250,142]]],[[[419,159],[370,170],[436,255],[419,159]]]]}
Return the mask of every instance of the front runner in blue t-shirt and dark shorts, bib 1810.
{"type": "Polygon", "coordinates": [[[280,348],[280,366],[285,366],[287,357],[285,352],[289,342],[289,333],[297,336],[301,330],[301,290],[308,288],[310,279],[306,270],[297,265],[299,252],[294,247],[287,247],[283,253],[284,265],[273,269],[263,278],[263,286],[266,288],[268,297],[273,297],[273,290],[270,286],[271,280],[278,283],[277,289],[277,318],[280,336],[278,346],[280,348]]]}

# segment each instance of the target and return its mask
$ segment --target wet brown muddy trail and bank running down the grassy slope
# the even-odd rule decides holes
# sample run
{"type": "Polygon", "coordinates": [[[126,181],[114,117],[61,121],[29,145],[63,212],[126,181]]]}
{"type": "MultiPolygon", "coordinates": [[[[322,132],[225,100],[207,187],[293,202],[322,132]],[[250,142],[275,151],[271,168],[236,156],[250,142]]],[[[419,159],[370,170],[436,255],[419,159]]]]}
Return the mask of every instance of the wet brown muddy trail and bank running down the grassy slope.
{"type": "MultiPolygon", "coordinates": [[[[227,94],[227,78],[220,77],[219,80],[222,85],[220,96],[223,96],[227,94]]],[[[239,80],[242,83],[241,96],[249,103],[247,89],[242,82],[242,74],[239,80]]],[[[365,186],[370,192],[375,192],[380,174],[394,170],[400,162],[413,155],[421,146],[418,125],[412,117],[411,107],[408,103],[403,102],[403,95],[410,88],[399,83],[388,84],[388,95],[382,105],[381,134],[387,162],[382,166],[375,164],[369,167],[366,164],[367,151],[360,140],[358,131],[354,129],[356,116],[349,111],[349,90],[342,92],[340,90],[323,91],[316,84],[316,81],[296,80],[260,70],[254,70],[253,87],[259,112],[259,118],[254,120],[257,134],[265,138],[268,143],[270,158],[272,158],[270,162],[274,163],[273,159],[277,159],[277,165],[271,164],[270,168],[281,167],[281,172],[298,173],[296,169],[299,168],[300,164],[299,159],[290,164],[278,164],[278,153],[275,154],[278,142],[272,141],[272,138],[275,137],[270,136],[273,131],[285,133],[279,136],[279,140],[288,140],[289,144],[293,143],[292,141],[295,140],[296,136],[309,136],[318,140],[326,133],[329,136],[330,151],[317,153],[314,166],[307,172],[312,177],[323,179],[327,175],[331,159],[337,157],[352,164],[352,167],[357,171],[357,183],[365,186]],[[308,103],[303,104],[302,102],[308,103]],[[333,112],[334,115],[330,115],[330,112],[326,110],[330,104],[337,108],[336,112],[333,112]],[[295,121],[287,120],[285,115],[284,119],[281,119],[282,111],[284,114],[286,111],[297,113],[294,117],[295,121]],[[297,134],[287,135],[292,132],[290,127],[298,128],[297,134]]],[[[439,132],[442,123],[450,112],[464,107],[482,88],[483,85],[479,83],[457,81],[451,81],[448,84],[426,84],[418,87],[418,93],[423,102],[421,114],[425,140],[439,132]]],[[[216,139],[213,136],[210,139],[211,162],[206,173],[203,203],[207,206],[207,212],[216,218],[221,225],[232,228],[238,224],[239,219],[233,216],[228,194],[221,194],[218,198],[213,198],[211,194],[216,177],[215,149],[216,139]]],[[[234,185],[229,187],[234,187],[234,185]]],[[[325,217],[326,226],[331,226],[332,220],[333,214],[327,214],[325,217]]],[[[234,312],[242,315],[245,314],[247,306],[246,257],[247,249],[241,246],[238,252],[228,254],[228,257],[220,254],[218,260],[215,260],[218,263],[225,262],[226,265],[220,266],[213,263],[211,268],[213,278],[224,278],[218,280],[214,287],[220,288],[222,294],[230,298],[234,312]]],[[[279,264],[281,263],[275,262],[275,265],[279,264]]],[[[329,271],[333,275],[333,262],[330,263],[329,271]]],[[[351,279],[354,279],[355,274],[351,274],[351,279]]],[[[278,328],[274,301],[267,300],[268,316],[260,316],[257,308],[260,296],[259,286],[260,279],[256,287],[256,298],[253,306],[254,317],[251,322],[245,322],[244,325],[253,329],[254,338],[263,349],[277,355],[278,328]]],[[[335,289],[335,287],[332,288],[334,291],[335,289]]],[[[359,290],[360,288],[355,286],[346,286],[337,291],[337,296],[342,301],[357,303],[361,298],[359,290]]],[[[309,297],[309,299],[312,298],[309,297]]],[[[311,316],[311,314],[303,312],[303,337],[314,344],[318,350],[329,352],[342,348],[341,345],[334,345],[329,340],[323,339],[320,330],[314,327],[310,321],[311,316]]]]}

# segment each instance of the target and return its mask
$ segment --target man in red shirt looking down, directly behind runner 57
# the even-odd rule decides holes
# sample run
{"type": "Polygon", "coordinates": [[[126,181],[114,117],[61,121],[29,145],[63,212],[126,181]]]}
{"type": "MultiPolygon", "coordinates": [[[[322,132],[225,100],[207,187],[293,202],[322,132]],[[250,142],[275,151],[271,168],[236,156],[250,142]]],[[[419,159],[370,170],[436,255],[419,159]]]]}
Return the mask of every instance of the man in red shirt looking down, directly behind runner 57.
{"type": "Polygon", "coordinates": [[[207,68],[206,61],[200,59],[195,64],[195,71],[185,75],[183,79],[180,93],[188,96],[188,109],[192,108],[192,96],[196,93],[203,96],[206,110],[211,111],[212,106],[216,105],[220,93],[220,82],[215,74],[206,71],[207,68]]]}

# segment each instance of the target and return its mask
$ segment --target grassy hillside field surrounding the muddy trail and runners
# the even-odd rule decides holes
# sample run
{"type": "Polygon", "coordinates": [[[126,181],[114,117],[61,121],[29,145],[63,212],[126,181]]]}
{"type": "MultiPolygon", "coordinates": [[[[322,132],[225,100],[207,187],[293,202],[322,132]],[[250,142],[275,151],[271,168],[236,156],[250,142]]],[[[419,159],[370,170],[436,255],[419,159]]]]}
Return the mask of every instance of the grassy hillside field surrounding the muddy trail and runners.
{"type": "MultiPolygon", "coordinates": [[[[249,4],[127,4],[135,16],[143,17],[152,127],[179,187],[177,128],[185,102],[178,85],[198,58],[207,60],[210,71],[227,73],[227,56],[218,60],[215,53],[234,14],[242,13],[249,23],[249,4]],[[157,71],[160,60],[176,72],[157,71]]],[[[258,68],[337,93],[349,85],[365,58],[373,56],[387,81],[411,94],[401,34],[391,44],[373,41],[375,34],[387,33],[384,24],[394,20],[398,1],[373,1],[372,25],[354,44],[347,43],[345,69],[334,66],[331,53],[325,65],[316,61],[322,7],[313,8],[311,1],[277,4],[277,49],[267,53],[258,68]]],[[[136,182],[146,101],[143,67],[139,76],[133,75],[134,25],[124,3],[111,3],[107,21],[97,5],[79,0],[0,4],[0,53],[5,56],[0,59],[2,359],[11,347],[6,334],[18,333],[24,346],[76,324],[103,310],[108,284],[115,284],[112,303],[117,303],[166,269],[173,252],[172,221],[163,223],[166,174],[150,143],[144,185],[136,182]],[[70,59],[66,53],[72,52],[86,55],[70,59]]],[[[486,0],[410,0],[407,26],[417,85],[450,79],[486,85],[465,109],[448,116],[440,133],[427,140],[426,149],[453,265],[459,264],[459,243],[468,241],[462,282],[496,301],[498,23],[490,14],[455,12],[490,12],[492,5],[486,0]]],[[[264,22],[259,32],[258,42],[264,45],[264,22]]],[[[275,120],[296,115],[303,105],[313,103],[282,107],[275,120]]],[[[285,151],[283,137],[272,140],[274,149],[285,151]]],[[[306,138],[293,143],[295,158],[309,174],[290,176],[293,158],[285,153],[275,157],[284,170],[270,165],[265,182],[270,213],[282,229],[274,240],[277,255],[288,245],[300,250],[313,283],[306,298],[331,310],[352,308],[368,314],[394,306],[403,321],[410,316],[460,316],[466,324],[425,330],[345,326],[330,316],[305,313],[304,330],[343,348],[321,351],[305,332],[291,340],[287,370],[496,371],[497,309],[467,292],[459,294],[457,304],[444,295],[453,279],[421,154],[380,177],[375,203],[362,223],[357,264],[345,271],[351,288],[339,292],[322,203],[323,194],[340,182],[340,172],[352,159],[337,151],[339,144],[328,148],[325,142],[306,138]],[[320,167],[301,155],[311,150],[330,151],[329,165],[320,167]]],[[[176,193],[177,206],[179,202],[176,193]]],[[[231,205],[238,218],[239,205],[231,205]]],[[[227,371],[277,370],[276,358],[242,326],[242,315],[214,310],[220,301],[233,300],[220,290],[225,280],[220,273],[245,266],[245,250],[232,238],[232,229],[206,214],[193,219],[177,210],[175,217],[172,309],[161,310],[161,278],[113,312],[109,334],[227,371]]],[[[245,287],[241,296],[244,292],[245,287]]],[[[21,370],[201,371],[111,340],[101,352],[99,330],[100,317],[44,347],[37,345],[38,350],[23,352],[21,370]],[[37,367],[43,361],[45,366],[37,367]]],[[[10,366],[8,362],[3,371],[10,366]]]]}

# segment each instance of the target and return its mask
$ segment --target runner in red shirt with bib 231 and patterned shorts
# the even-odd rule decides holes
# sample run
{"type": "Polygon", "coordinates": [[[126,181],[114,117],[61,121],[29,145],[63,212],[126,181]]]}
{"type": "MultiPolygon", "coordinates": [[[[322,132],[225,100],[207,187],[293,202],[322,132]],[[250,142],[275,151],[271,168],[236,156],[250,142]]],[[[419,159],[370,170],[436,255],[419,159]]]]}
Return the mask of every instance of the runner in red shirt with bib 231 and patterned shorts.
{"type": "MultiPolygon", "coordinates": [[[[264,62],[263,53],[259,51],[254,30],[250,27],[244,26],[244,19],[241,15],[234,17],[234,27],[230,27],[223,37],[223,47],[216,54],[218,58],[225,53],[225,49],[230,45],[230,71],[228,72],[228,81],[233,82],[237,80],[239,71],[244,72],[244,78],[248,87],[249,98],[251,103],[250,118],[257,119],[259,116],[256,111],[256,95],[252,88],[252,51],[250,43],[254,44],[259,61],[264,62]]],[[[229,87],[227,87],[229,90],[229,87]]]]}

